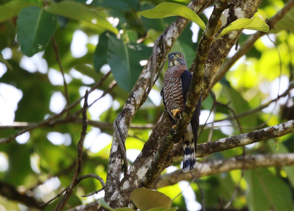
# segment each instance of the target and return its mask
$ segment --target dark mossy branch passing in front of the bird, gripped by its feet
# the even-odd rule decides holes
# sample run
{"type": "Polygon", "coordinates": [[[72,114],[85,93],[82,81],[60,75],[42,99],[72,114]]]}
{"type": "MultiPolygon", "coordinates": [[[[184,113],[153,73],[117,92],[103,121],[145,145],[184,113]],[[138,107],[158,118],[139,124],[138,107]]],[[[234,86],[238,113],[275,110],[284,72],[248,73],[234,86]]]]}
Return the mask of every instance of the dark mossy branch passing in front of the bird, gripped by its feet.
{"type": "Polygon", "coordinates": [[[161,173],[159,170],[168,152],[173,147],[173,144],[181,140],[182,134],[191,121],[196,104],[201,95],[201,84],[203,80],[209,48],[216,33],[218,20],[220,19],[222,12],[226,9],[227,6],[227,1],[216,1],[211,17],[208,20],[206,30],[204,31],[203,36],[201,37],[201,40],[199,42],[196,58],[194,59],[193,65],[191,67],[191,69],[194,69],[195,71],[193,71],[194,73],[192,77],[192,82],[189,92],[187,94],[186,105],[182,117],[177,123],[175,132],[173,132],[173,134],[171,133],[171,137],[166,138],[166,140],[159,148],[158,152],[155,154],[151,166],[147,170],[145,177],[143,177],[140,187],[150,187],[152,185],[154,180],[161,173]]]}

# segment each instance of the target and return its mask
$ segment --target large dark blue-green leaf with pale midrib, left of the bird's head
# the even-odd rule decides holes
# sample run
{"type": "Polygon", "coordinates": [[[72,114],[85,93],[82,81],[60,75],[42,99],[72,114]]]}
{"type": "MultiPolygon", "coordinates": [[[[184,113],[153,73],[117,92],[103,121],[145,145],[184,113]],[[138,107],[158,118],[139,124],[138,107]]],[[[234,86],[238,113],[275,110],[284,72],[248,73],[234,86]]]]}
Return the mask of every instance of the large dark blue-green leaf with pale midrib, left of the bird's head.
{"type": "Polygon", "coordinates": [[[143,70],[139,62],[148,59],[152,48],[144,44],[126,44],[113,34],[107,33],[106,35],[109,42],[107,63],[118,85],[130,92],[143,70]]]}

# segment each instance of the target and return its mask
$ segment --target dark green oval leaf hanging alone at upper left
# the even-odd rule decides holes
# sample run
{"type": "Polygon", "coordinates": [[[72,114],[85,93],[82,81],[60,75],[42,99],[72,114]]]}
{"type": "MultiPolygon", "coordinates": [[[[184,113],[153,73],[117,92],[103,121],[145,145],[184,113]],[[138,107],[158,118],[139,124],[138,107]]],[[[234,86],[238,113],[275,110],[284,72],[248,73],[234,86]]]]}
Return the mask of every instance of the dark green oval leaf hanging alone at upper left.
{"type": "Polygon", "coordinates": [[[57,27],[57,17],[36,6],[26,7],[17,19],[17,40],[24,55],[44,51],[57,27]]]}

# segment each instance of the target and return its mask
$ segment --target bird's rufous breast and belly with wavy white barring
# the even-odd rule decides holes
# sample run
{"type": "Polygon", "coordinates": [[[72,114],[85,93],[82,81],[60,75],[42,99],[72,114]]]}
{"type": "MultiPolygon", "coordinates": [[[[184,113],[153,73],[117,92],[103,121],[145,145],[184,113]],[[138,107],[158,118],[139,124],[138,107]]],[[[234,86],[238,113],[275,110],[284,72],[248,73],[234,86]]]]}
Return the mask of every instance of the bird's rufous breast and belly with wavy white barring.
{"type": "MultiPolygon", "coordinates": [[[[186,67],[182,65],[176,65],[166,70],[163,80],[163,93],[166,102],[166,109],[168,113],[173,117],[171,110],[184,109],[185,103],[183,98],[183,92],[181,87],[181,74],[186,70],[186,67]]],[[[180,113],[179,113],[180,114],[180,113]]],[[[179,116],[173,117],[173,119],[179,119],[179,116]]]]}

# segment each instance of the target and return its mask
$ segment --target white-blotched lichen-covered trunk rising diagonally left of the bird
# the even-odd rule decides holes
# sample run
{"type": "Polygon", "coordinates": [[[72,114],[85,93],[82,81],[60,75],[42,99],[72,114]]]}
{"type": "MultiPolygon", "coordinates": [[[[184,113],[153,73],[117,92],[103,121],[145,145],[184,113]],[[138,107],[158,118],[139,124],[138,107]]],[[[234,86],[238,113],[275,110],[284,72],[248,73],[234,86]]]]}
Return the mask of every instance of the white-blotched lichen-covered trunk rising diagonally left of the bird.
{"type": "MultiPolygon", "coordinates": [[[[191,4],[189,4],[189,7],[196,11],[200,9],[200,7],[204,4],[206,1],[195,1],[193,0],[191,4]],[[197,5],[197,7],[196,7],[197,5]],[[199,6],[198,6],[199,5],[199,6]]],[[[142,102],[144,102],[146,92],[148,91],[148,87],[151,87],[153,84],[154,76],[156,72],[158,72],[159,67],[166,56],[166,52],[170,51],[171,46],[176,41],[178,36],[181,34],[183,29],[186,27],[186,25],[189,23],[189,20],[178,17],[176,21],[168,26],[168,28],[163,32],[163,35],[161,36],[161,39],[158,40],[158,45],[154,45],[154,51],[156,51],[156,60],[154,60],[153,56],[151,56],[145,65],[138,81],[136,82],[135,86],[133,87],[132,92],[129,95],[129,98],[119,116],[117,121],[119,122],[119,127],[121,129],[123,139],[125,140],[128,134],[128,129],[131,124],[131,121],[142,102]],[[162,38],[165,38],[162,40],[162,38]],[[163,47],[165,45],[165,47],[163,47]],[[154,64],[156,64],[156,67],[154,67],[154,64]],[[153,76],[153,77],[152,77],[153,76]]],[[[150,91],[150,90],[149,90],[150,91]]],[[[107,170],[107,180],[106,180],[106,188],[105,188],[105,200],[108,202],[111,198],[112,194],[115,192],[115,190],[118,188],[118,185],[120,185],[120,173],[121,173],[121,164],[122,164],[122,156],[118,149],[118,140],[116,137],[116,133],[113,135],[113,141],[111,145],[111,152],[110,152],[110,158],[108,163],[108,170],[107,170]]],[[[136,186],[132,187],[135,188],[136,186]]],[[[138,186],[137,186],[138,187],[138,186]]],[[[130,188],[129,190],[131,191],[130,188]]],[[[131,192],[130,192],[131,193],[131,192]]],[[[129,193],[129,194],[130,194],[129,193]]],[[[123,194],[124,198],[129,201],[129,194],[123,194]]],[[[120,201],[118,200],[119,197],[113,196],[116,202],[120,201]]],[[[120,201],[119,204],[126,204],[126,201],[120,201]]],[[[117,204],[111,204],[110,206],[113,208],[118,207],[117,204]]]]}

